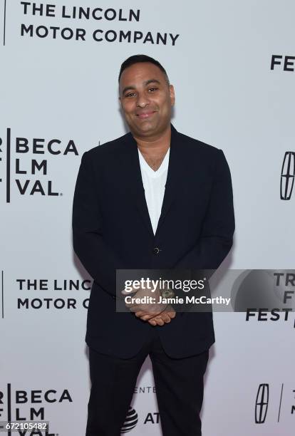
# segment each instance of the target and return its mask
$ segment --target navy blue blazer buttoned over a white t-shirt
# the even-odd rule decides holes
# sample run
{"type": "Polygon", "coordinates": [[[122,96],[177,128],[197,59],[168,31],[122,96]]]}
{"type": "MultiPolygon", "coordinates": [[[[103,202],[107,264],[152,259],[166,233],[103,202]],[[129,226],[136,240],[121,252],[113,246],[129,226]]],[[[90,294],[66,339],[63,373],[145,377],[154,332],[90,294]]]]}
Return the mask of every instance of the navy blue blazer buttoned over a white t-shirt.
{"type": "Polygon", "coordinates": [[[155,235],[133,135],[94,147],[81,160],[73,248],[93,277],[86,342],[100,353],[130,358],[151,328],[174,358],[202,353],[214,343],[212,313],[177,313],[170,323],[153,327],[134,313],[115,311],[116,269],[217,269],[232,246],[232,182],[222,150],[171,130],[155,235]]]}

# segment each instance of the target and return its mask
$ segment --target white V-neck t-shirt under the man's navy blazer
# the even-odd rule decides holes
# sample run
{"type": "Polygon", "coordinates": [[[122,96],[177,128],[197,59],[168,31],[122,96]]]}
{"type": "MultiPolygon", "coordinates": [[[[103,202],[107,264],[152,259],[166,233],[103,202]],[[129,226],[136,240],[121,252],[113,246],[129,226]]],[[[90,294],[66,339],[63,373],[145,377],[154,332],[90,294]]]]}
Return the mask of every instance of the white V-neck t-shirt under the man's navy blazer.
{"type": "Polygon", "coordinates": [[[150,165],[148,165],[139,148],[138,155],[140,160],[141,177],[143,179],[143,187],[145,188],[145,200],[148,205],[148,213],[150,214],[152,230],[155,234],[165,193],[170,148],[168,148],[167,153],[157,171],[152,170],[150,165]]]}

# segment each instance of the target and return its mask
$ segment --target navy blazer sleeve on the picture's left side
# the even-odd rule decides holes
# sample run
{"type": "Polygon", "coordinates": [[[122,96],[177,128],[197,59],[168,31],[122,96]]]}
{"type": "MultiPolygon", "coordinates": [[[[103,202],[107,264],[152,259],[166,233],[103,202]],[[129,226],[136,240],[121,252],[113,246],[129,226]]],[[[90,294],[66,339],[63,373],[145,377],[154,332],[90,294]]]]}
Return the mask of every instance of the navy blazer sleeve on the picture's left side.
{"type": "Polygon", "coordinates": [[[116,295],[116,269],[123,261],[103,239],[102,219],[95,189],[91,156],[85,152],[73,197],[73,249],[93,280],[108,294],[116,295]]]}

